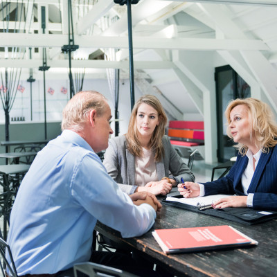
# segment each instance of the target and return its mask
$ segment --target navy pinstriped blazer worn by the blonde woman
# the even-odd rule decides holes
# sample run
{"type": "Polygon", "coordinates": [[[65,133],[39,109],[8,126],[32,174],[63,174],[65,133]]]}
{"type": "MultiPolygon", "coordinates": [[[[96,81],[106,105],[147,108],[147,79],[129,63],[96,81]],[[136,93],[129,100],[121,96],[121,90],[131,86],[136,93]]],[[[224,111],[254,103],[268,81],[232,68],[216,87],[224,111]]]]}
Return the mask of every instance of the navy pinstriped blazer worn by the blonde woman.
{"type": "MultiPolygon", "coordinates": [[[[241,179],[247,163],[247,156],[238,154],[237,161],[226,177],[204,184],[205,195],[244,195],[241,179]]],[[[270,148],[269,153],[260,155],[247,193],[254,194],[254,210],[277,211],[277,146],[270,148]]]]}

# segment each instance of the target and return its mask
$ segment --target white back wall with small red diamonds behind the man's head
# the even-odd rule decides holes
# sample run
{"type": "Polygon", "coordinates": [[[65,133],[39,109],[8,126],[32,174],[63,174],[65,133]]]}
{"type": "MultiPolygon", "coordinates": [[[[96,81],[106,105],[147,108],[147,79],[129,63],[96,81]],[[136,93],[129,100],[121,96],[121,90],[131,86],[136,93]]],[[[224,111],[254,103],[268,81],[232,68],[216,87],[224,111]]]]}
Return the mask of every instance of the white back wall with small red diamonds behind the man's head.
{"type": "MultiPolygon", "coordinates": [[[[24,117],[26,122],[30,122],[30,84],[26,81],[21,81],[19,84],[25,87],[23,93],[17,91],[15,103],[10,111],[10,118],[24,117]]],[[[62,109],[69,100],[69,80],[46,80],[46,91],[51,87],[54,89],[53,95],[46,92],[46,121],[61,121],[62,109]],[[66,94],[61,93],[61,88],[68,89],[66,94]]],[[[114,117],[114,101],[109,91],[107,80],[100,79],[84,79],[82,90],[95,90],[102,93],[109,102],[111,114],[114,117]]],[[[141,96],[141,91],[135,86],[135,101],[141,96]]],[[[119,115],[120,115],[120,134],[127,132],[129,116],[131,114],[130,104],[130,87],[129,80],[120,80],[119,87],[119,115]]],[[[11,119],[10,119],[11,120],[11,119]]],[[[33,82],[33,122],[44,122],[44,82],[36,80],[33,82]]],[[[0,123],[5,123],[5,114],[3,107],[0,105],[0,123]]],[[[111,124],[114,129],[114,123],[111,124]]]]}

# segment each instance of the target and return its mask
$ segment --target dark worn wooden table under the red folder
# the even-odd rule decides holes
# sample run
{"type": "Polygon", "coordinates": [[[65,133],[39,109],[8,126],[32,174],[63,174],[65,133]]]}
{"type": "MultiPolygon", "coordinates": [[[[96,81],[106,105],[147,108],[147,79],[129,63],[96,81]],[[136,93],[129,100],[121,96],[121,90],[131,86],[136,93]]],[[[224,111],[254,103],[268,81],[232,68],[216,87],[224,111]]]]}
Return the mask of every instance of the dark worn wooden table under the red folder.
{"type": "Polygon", "coordinates": [[[100,222],[96,224],[96,231],[111,240],[129,245],[132,250],[143,253],[145,258],[167,267],[177,276],[277,276],[277,220],[249,226],[163,205],[152,230],[139,238],[123,239],[118,231],[100,222]],[[166,255],[151,233],[154,229],[215,225],[231,225],[250,238],[258,240],[259,245],[240,249],[166,255]]]}

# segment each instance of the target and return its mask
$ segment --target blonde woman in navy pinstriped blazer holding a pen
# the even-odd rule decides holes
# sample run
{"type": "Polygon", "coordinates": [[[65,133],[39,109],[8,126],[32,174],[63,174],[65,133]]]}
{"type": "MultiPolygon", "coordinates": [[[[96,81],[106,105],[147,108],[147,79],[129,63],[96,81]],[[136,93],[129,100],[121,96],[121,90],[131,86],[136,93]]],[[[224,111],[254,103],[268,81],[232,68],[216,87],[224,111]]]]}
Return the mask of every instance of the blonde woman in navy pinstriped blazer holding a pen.
{"type": "Polygon", "coordinates": [[[277,124],[271,109],[255,98],[236,99],[225,116],[227,134],[238,143],[237,161],[226,177],[205,184],[179,184],[179,192],[184,197],[235,194],[218,200],[214,208],[277,211],[277,124]]]}

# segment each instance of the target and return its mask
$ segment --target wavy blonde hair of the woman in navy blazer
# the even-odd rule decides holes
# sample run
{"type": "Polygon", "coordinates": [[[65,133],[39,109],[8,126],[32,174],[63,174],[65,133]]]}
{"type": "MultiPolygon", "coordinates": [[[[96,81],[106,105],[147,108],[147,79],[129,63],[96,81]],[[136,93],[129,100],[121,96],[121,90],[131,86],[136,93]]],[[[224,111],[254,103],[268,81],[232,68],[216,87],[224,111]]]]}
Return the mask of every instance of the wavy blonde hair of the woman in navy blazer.
{"type": "MultiPolygon", "coordinates": [[[[262,148],[262,152],[269,152],[269,148],[277,144],[277,124],[269,105],[255,98],[232,100],[225,110],[228,124],[231,123],[231,110],[238,105],[244,105],[247,108],[249,123],[252,126],[250,138],[254,139],[256,147],[262,148]]],[[[230,138],[233,138],[229,126],[227,127],[227,134],[230,138]]],[[[248,150],[247,145],[242,143],[235,145],[235,148],[238,148],[242,155],[245,155],[248,150]]]]}

